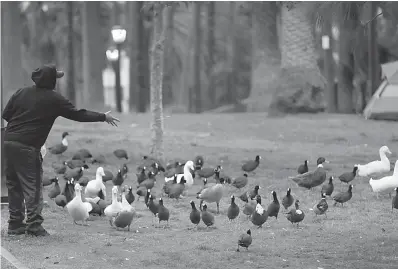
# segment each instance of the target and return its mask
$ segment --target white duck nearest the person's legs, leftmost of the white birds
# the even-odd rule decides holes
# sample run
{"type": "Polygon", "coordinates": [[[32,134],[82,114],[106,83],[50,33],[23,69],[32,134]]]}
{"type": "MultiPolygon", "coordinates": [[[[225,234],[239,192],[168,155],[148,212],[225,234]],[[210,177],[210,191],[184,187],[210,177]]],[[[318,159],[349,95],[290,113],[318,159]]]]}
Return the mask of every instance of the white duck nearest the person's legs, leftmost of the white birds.
{"type": "Polygon", "coordinates": [[[77,223],[77,221],[81,221],[83,225],[88,226],[87,219],[89,218],[89,212],[93,210],[93,207],[90,203],[82,201],[81,191],[82,187],[79,183],[76,183],[75,198],[66,205],[66,208],[75,224],[81,225],[77,223]]]}

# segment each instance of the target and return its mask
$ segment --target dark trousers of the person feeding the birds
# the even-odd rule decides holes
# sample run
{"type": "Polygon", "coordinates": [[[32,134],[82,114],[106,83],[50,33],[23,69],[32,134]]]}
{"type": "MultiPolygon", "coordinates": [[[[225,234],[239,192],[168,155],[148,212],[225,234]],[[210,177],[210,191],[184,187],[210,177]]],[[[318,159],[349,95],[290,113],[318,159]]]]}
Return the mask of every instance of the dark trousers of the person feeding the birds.
{"type": "Polygon", "coordinates": [[[3,156],[10,212],[9,229],[21,227],[26,206],[26,230],[42,230],[43,158],[40,149],[18,142],[4,141],[3,156]]]}

